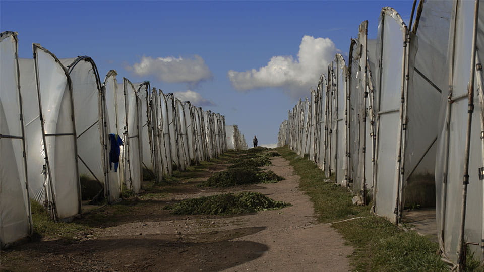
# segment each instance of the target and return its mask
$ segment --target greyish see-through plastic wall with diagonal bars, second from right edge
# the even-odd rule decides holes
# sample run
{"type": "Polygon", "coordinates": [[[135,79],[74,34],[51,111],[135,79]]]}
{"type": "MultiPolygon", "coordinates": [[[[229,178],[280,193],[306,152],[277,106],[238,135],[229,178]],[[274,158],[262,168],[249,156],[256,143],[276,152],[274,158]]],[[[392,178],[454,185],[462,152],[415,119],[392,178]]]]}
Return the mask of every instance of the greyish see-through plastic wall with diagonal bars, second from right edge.
{"type": "MultiPolygon", "coordinates": [[[[420,2],[410,32],[409,81],[403,139],[404,169],[400,207],[434,207],[435,161],[442,91],[448,89],[447,48],[452,3],[420,2]]],[[[399,214],[401,216],[401,213],[399,214]]]]}

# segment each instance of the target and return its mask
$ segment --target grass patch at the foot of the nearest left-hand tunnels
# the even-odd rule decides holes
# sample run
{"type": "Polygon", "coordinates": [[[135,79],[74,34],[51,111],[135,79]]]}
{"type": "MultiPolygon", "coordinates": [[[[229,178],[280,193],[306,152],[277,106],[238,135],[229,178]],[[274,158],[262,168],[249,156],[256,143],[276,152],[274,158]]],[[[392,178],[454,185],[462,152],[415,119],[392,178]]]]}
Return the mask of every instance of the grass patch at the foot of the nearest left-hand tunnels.
{"type": "Polygon", "coordinates": [[[48,211],[37,201],[31,199],[32,223],[34,236],[47,239],[74,240],[74,237],[89,229],[84,225],[66,222],[54,222],[48,211]]]}

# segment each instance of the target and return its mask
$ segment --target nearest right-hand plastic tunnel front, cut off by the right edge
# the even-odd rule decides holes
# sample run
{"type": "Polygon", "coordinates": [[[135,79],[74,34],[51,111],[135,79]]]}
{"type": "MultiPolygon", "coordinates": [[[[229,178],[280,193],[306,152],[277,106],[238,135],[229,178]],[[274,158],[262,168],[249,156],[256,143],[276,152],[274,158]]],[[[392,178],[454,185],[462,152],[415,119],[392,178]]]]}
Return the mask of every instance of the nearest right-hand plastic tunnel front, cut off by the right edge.
{"type": "MultiPolygon", "coordinates": [[[[434,3],[433,8],[440,9],[444,4],[434,3]]],[[[466,247],[474,252],[474,257],[484,259],[481,62],[484,54],[479,50],[484,47],[484,6],[479,5],[479,1],[456,1],[451,5],[447,57],[450,88],[441,100],[443,118],[437,147],[436,218],[444,257],[462,268],[466,247]]],[[[445,25],[439,25],[441,27],[445,31],[445,25]]]]}

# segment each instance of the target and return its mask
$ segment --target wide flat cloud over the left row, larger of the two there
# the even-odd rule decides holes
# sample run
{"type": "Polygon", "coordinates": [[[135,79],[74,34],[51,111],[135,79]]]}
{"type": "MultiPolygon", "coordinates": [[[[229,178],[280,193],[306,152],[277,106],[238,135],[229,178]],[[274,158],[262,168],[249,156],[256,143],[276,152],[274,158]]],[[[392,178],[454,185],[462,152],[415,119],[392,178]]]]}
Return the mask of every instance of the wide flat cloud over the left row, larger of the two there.
{"type": "Polygon", "coordinates": [[[153,75],[168,83],[197,84],[212,77],[210,69],[199,55],[191,58],[143,56],[139,63],[128,66],[127,69],[137,76],[153,75]]]}

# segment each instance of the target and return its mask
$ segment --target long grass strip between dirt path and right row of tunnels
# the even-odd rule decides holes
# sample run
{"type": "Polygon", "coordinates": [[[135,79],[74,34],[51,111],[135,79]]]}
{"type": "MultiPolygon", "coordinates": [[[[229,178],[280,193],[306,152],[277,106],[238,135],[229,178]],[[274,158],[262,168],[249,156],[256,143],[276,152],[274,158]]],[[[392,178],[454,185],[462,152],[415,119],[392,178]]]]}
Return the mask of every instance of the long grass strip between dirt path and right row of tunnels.
{"type": "Polygon", "coordinates": [[[300,176],[299,187],[311,197],[319,222],[332,224],[355,248],[349,256],[354,271],[448,271],[438,245],[414,231],[404,231],[384,218],[370,215],[370,206],[354,206],[351,193],[332,182],[307,158],[287,147],[276,149],[300,176]]]}

